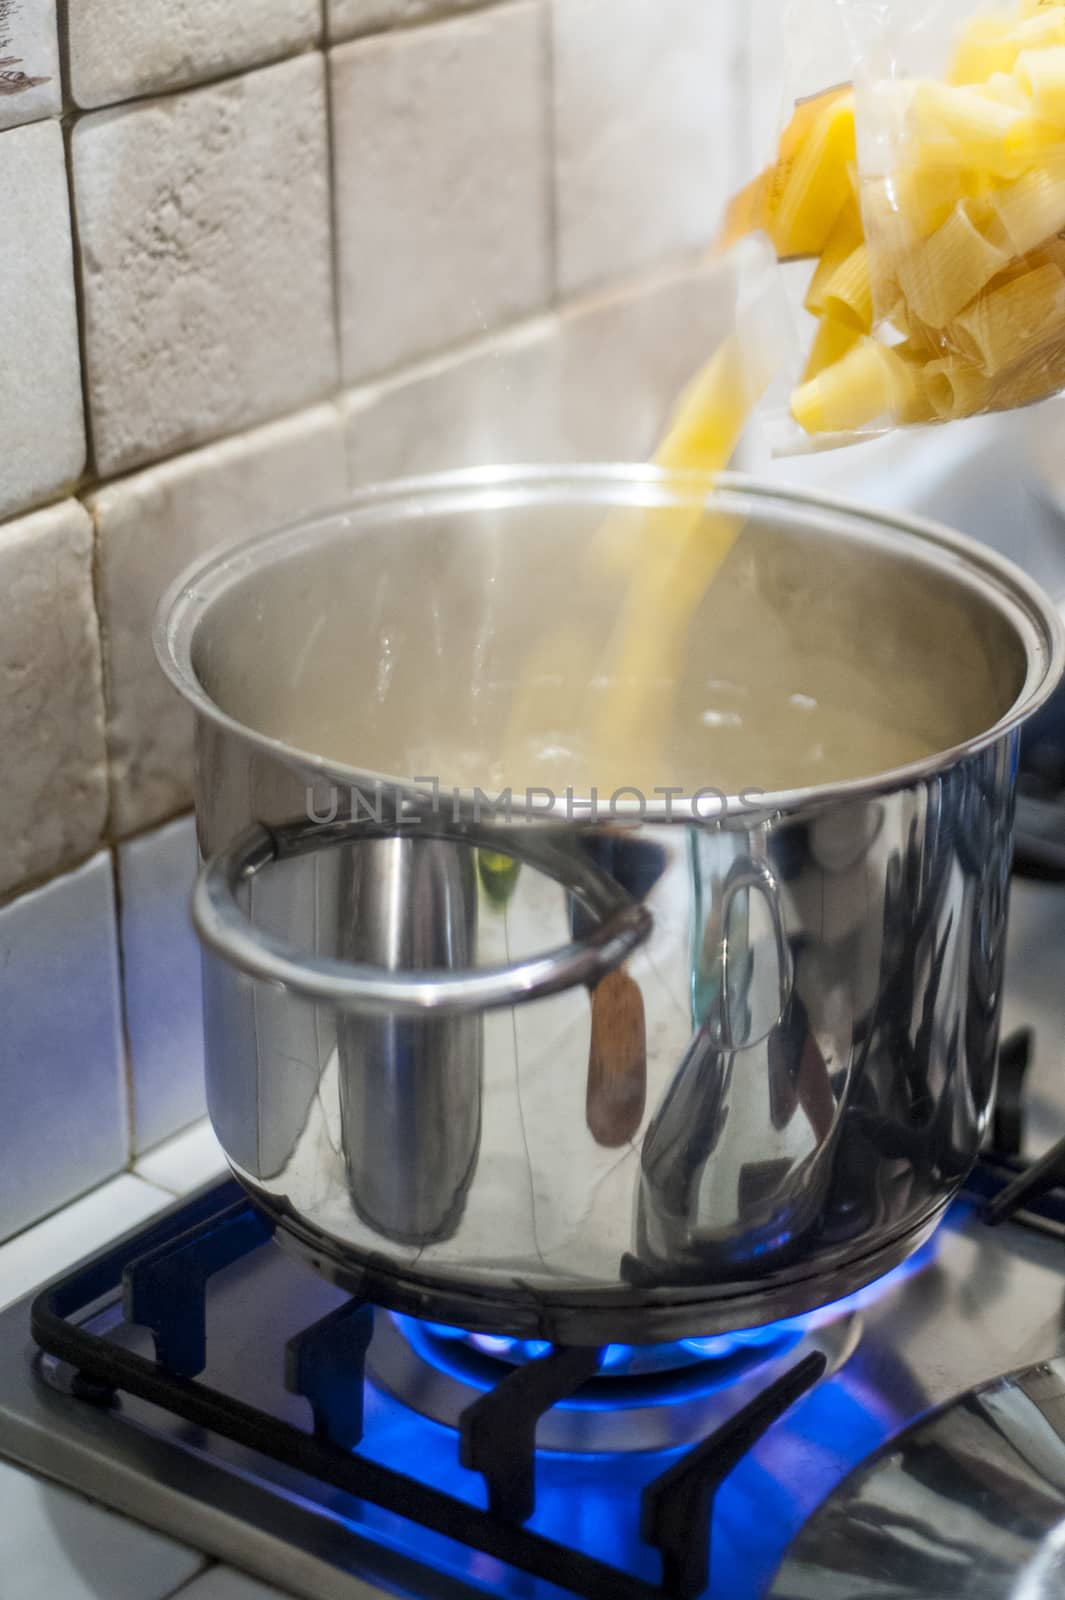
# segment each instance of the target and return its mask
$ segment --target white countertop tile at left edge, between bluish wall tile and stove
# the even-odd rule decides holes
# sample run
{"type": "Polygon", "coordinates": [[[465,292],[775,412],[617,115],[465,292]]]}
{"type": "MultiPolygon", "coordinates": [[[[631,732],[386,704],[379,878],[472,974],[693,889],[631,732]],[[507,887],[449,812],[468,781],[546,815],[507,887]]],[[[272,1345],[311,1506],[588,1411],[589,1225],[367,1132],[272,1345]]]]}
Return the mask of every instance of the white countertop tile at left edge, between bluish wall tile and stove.
{"type": "Polygon", "coordinates": [[[30,1294],[48,1278],[173,1203],[171,1190],[120,1173],[82,1200],[62,1206],[54,1216],[16,1234],[6,1245],[0,1245],[0,1307],[30,1294]]]}

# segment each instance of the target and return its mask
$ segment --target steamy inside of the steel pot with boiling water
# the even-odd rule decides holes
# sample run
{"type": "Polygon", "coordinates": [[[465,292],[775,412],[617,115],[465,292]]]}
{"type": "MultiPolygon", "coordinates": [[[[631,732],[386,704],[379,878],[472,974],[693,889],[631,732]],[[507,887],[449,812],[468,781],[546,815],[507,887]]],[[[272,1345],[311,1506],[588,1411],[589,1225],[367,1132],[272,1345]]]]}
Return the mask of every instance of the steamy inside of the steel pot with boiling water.
{"type": "Polygon", "coordinates": [[[870,776],[982,733],[1020,693],[1007,624],[950,558],[918,562],[848,517],[833,534],[801,506],[734,502],[744,531],[662,656],[656,747],[611,773],[588,726],[617,688],[601,662],[628,579],[582,574],[603,512],[579,501],[369,523],[299,552],[297,573],[235,565],[197,667],[246,725],[358,771],[558,794],[870,776]],[[531,659],[542,714],[526,707],[515,741],[531,659]]]}

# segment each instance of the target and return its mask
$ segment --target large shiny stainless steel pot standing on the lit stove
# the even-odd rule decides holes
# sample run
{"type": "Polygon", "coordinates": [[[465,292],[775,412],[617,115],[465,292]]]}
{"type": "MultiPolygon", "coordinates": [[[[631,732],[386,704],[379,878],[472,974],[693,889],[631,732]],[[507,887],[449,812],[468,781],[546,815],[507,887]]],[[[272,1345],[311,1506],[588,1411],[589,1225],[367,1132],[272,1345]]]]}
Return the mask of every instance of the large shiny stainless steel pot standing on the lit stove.
{"type": "Polygon", "coordinates": [[[469,1328],[651,1342],[796,1314],[927,1237],[991,1106],[1019,728],[1065,659],[1019,571],[739,478],[501,469],[201,563],[157,648],[197,712],[211,1118],[321,1270],[469,1328]],[[595,816],[453,794],[548,622],[608,637],[619,595],[574,550],[672,504],[745,520],[673,698],[835,696],[835,781],[787,787],[768,746],[697,798],[715,731],[662,773],[684,794],[595,816]],[[870,770],[870,718],[923,754],[870,770]],[[585,1094],[622,963],[646,1110],[616,1147],[585,1094]]]}

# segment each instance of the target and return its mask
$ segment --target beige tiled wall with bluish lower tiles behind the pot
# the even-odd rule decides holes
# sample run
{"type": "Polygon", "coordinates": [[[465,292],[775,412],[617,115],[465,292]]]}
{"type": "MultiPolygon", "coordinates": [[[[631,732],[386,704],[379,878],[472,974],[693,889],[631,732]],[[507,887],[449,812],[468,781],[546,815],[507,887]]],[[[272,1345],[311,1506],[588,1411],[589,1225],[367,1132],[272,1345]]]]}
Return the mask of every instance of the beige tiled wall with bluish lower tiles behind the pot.
{"type": "Polygon", "coordinates": [[[0,0],[0,1238],[203,1109],[163,586],[374,477],[641,456],[718,336],[747,34],[0,0]]]}

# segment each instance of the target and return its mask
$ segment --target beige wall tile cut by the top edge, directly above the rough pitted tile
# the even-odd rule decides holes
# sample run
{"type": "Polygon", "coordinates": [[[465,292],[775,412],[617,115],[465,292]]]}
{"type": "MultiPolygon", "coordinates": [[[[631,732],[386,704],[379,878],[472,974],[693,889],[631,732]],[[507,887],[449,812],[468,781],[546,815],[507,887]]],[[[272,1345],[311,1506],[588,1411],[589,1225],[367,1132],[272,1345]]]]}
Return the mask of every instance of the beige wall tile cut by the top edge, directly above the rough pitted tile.
{"type": "Polygon", "coordinates": [[[67,0],[70,94],[90,107],[182,88],[277,61],[320,27],[318,0],[67,0]]]}

